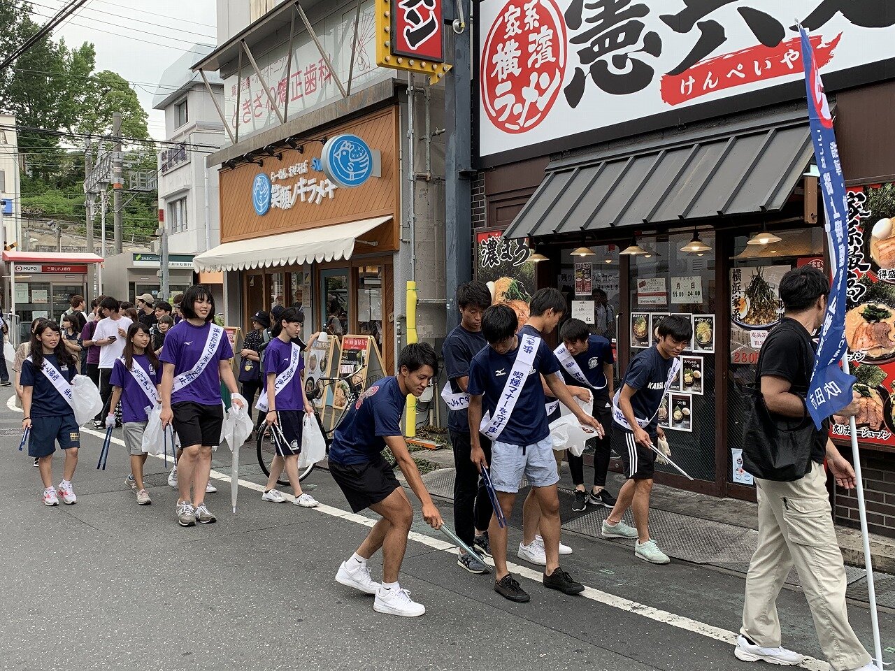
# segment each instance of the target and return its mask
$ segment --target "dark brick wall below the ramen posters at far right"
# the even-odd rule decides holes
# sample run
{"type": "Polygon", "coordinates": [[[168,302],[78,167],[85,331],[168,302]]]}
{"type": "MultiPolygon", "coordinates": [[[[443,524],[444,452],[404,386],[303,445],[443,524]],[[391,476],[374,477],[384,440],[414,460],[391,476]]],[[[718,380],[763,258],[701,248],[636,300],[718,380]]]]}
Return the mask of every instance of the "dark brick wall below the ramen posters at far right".
{"type": "MultiPolygon", "coordinates": [[[[850,453],[840,448],[842,454],[850,453]]],[[[864,450],[861,471],[867,504],[867,528],[871,533],[895,538],[895,454],[864,450]]],[[[836,489],[836,522],[858,529],[857,495],[836,489]]]]}

